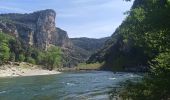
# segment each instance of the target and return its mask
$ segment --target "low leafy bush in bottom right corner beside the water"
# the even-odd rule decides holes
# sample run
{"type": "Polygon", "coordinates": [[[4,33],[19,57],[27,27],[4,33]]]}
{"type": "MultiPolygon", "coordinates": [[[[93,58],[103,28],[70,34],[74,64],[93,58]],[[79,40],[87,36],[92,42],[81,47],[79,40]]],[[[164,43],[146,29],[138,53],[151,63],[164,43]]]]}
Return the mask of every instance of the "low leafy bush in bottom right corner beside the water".
{"type": "Polygon", "coordinates": [[[132,100],[169,100],[170,98],[170,51],[160,53],[152,63],[149,76],[139,83],[126,83],[120,93],[132,100]]]}

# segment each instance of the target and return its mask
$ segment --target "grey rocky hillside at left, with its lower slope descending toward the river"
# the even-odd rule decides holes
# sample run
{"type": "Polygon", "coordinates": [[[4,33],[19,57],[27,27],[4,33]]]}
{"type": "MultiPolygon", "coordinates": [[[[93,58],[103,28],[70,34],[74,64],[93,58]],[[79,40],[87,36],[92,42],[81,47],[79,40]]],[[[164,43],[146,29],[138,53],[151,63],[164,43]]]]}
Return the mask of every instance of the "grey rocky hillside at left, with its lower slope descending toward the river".
{"type": "Polygon", "coordinates": [[[60,47],[63,66],[84,62],[89,55],[73,45],[66,31],[56,27],[55,18],[56,13],[51,9],[30,14],[0,14],[0,32],[17,38],[26,47],[39,50],[47,50],[52,45],[60,47]]]}

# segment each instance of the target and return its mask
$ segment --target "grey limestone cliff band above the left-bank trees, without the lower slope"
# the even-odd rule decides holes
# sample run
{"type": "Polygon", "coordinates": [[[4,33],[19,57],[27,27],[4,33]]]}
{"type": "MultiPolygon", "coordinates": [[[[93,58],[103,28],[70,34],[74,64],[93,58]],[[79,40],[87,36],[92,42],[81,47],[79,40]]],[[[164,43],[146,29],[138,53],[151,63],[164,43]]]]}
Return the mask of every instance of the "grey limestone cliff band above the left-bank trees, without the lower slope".
{"type": "Polygon", "coordinates": [[[30,14],[1,14],[0,30],[43,50],[50,45],[70,47],[67,33],[56,28],[55,17],[56,13],[51,9],[30,14]]]}

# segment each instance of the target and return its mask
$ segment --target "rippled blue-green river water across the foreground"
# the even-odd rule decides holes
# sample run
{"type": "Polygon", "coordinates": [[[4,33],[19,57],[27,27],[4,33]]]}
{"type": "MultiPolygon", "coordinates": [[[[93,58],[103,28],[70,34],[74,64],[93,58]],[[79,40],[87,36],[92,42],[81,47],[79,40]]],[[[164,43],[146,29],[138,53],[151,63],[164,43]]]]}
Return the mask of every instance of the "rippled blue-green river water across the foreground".
{"type": "Polygon", "coordinates": [[[0,78],[0,100],[109,100],[120,82],[139,77],[105,71],[0,78]]]}

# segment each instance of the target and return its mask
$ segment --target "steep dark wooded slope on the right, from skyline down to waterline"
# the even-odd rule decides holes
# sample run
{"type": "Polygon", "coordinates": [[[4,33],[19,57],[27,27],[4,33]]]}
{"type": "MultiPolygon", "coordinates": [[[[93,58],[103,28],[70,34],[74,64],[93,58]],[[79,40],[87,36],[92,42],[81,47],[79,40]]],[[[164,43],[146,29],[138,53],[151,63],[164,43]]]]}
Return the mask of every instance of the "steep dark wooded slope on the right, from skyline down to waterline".
{"type": "Polygon", "coordinates": [[[135,0],[112,39],[88,63],[105,62],[108,70],[145,71],[169,49],[169,12],[166,0],[135,0]]]}

